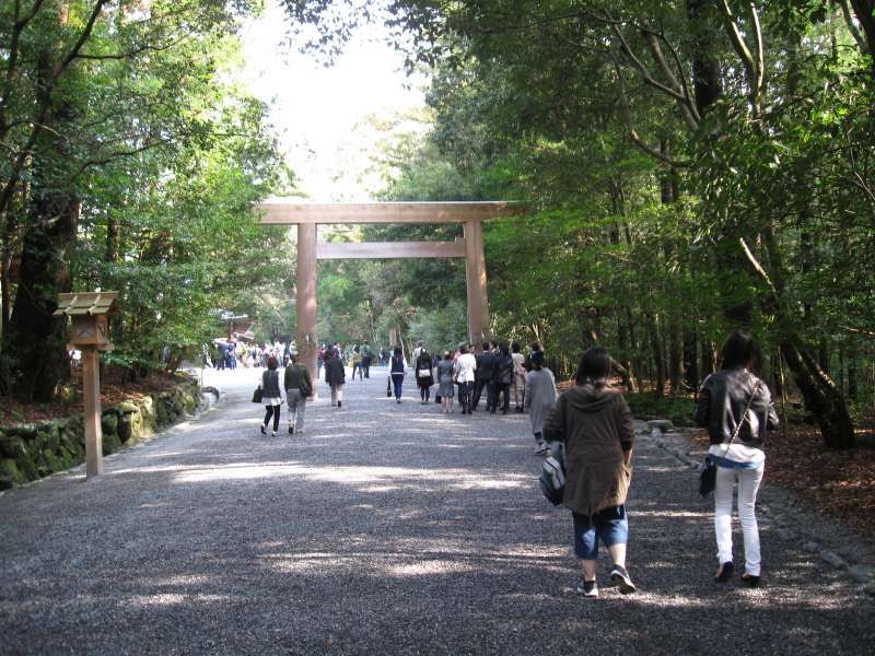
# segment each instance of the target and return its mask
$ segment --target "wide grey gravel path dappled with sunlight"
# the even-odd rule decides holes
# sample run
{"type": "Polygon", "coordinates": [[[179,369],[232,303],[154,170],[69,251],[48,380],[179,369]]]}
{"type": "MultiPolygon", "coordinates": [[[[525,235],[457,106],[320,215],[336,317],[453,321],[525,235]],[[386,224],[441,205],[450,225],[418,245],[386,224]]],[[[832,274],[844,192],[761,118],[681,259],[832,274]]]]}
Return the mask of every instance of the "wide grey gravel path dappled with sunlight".
{"type": "Polygon", "coordinates": [[[229,372],[217,409],[98,479],[0,496],[0,653],[871,653],[875,602],[774,522],[767,587],[713,584],[710,500],[648,434],[640,593],[586,600],[526,417],[444,418],[409,377],[398,406],[372,368],[342,409],[312,405],[304,435],[266,438],[256,376],[229,372]]]}

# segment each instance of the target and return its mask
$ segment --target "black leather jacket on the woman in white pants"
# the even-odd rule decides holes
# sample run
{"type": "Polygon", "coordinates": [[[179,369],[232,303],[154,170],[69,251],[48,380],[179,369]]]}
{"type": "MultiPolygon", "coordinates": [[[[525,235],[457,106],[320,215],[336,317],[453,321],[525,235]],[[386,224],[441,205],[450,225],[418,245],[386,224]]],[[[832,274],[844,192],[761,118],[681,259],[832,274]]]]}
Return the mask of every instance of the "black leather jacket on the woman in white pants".
{"type": "Polygon", "coordinates": [[[766,431],[779,426],[778,413],[766,383],[746,368],[721,370],[704,379],[696,402],[696,425],[708,427],[711,444],[726,444],[732,440],[757,382],[759,387],[757,396],[750,401],[748,421],[742,424],[736,441],[761,447],[766,431]]]}

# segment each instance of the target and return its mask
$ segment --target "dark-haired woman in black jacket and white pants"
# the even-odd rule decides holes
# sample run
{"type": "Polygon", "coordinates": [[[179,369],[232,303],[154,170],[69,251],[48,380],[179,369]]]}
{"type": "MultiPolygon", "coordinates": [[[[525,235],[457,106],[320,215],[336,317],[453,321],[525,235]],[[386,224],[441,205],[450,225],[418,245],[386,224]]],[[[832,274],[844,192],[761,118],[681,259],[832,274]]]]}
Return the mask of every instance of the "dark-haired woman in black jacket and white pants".
{"type": "Polygon", "coordinates": [[[778,427],[778,414],[766,384],[751,370],[758,361],[752,337],[733,332],[721,351],[720,371],[702,383],[696,402],[696,423],[708,427],[709,457],[718,466],[714,488],[714,532],[720,567],[718,583],[734,571],[732,554],[732,497],[738,487],[738,519],[745,544],[742,582],[760,583],[761,558],[757,527],[757,492],[766,468],[762,445],[766,431],[778,427]]]}

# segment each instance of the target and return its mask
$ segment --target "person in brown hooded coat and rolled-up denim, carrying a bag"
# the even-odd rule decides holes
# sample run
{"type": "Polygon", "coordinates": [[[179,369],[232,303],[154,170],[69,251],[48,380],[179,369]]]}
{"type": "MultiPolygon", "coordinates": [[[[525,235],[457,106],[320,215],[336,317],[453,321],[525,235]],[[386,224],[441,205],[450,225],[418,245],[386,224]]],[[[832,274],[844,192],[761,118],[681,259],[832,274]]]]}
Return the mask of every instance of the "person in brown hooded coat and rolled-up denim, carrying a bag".
{"type": "Polygon", "coordinates": [[[608,549],[610,579],[623,595],[635,591],[626,571],[629,520],[626,497],[632,480],[632,413],[609,384],[610,355],[602,347],[583,354],[576,385],[562,394],[544,420],[544,438],[564,446],[562,505],[574,523],[574,553],[581,561],[578,594],[598,596],[598,542],[608,549]]]}

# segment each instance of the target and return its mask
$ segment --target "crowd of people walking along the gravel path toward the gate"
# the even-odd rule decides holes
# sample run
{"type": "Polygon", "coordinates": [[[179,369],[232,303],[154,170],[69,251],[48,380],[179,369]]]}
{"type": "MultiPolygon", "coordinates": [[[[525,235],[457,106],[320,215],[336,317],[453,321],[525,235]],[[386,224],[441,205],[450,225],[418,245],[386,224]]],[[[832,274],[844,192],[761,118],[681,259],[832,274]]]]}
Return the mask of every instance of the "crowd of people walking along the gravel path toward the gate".
{"type": "MultiPolygon", "coordinates": [[[[377,362],[383,364],[385,349],[377,362]]],[[[343,350],[338,344],[319,350],[319,368],[330,389],[331,406],[342,408],[346,366],[360,379],[370,376],[374,354],[366,344],[343,350]]],[[[283,360],[285,360],[283,358],[283,360]]],[[[280,421],[282,390],[289,403],[289,433],[303,430],[306,398],[313,382],[293,351],[285,360],[283,385],[278,367],[281,360],[268,356],[267,371],[259,386],[266,408],[261,433],[272,420],[272,435],[280,421]]],[[[637,590],[626,569],[629,517],[626,501],[632,481],[634,430],[629,406],[620,389],[611,385],[612,360],[600,347],[587,350],[578,366],[574,385],[559,395],[553,373],[545,364],[540,344],[532,343],[523,355],[516,342],[485,341],[479,348],[460,343],[454,352],[431,353],[418,342],[408,361],[401,347],[393,349],[386,365],[386,396],[401,403],[404,384],[411,370],[421,405],[430,403],[432,388],[443,414],[470,415],[485,400],[486,412],[527,413],[536,443],[535,454],[559,458],[565,485],[562,505],[571,511],[573,549],[580,561],[578,593],[598,597],[596,565],[598,546],[611,559],[610,579],[621,594],[637,590]],[[408,364],[410,366],[408,366],[408,364]]],[[[743,529],[745,585],[760,584],[761,555],[756,519],[756,499],[762,480],[766,432],[778,427],[768,387],[756,374],[758,351],[750,335],[733,332],[721,351],[720,371],[702,383],[697,397],[695,421],[708,429],[708,458],[716,467],[714,490],[714,532],[719,566],[716,583],[733,576],[732,542],[733,491],[737,488],[737,509],[743,529]]]]}

